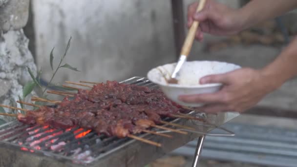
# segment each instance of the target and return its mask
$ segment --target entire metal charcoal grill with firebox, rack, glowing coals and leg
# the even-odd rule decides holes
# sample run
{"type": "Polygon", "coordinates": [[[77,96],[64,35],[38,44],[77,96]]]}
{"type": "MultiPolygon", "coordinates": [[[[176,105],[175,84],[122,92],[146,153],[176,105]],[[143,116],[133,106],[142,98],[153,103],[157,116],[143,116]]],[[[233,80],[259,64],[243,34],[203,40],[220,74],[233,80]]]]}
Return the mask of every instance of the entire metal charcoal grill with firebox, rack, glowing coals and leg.
{"type": "MultiPolygon", "coordinates": [[[[157,85],[142,77],[133,77],[122,83],[158,88],[157,85]]],[[[143,167],[199,138],[193,161],[193,167],[196,167],[204,136],[233,136],[231,131],[219,126],[238,116],[238,113],[205,115],[192,111],[189,115],[203,117],[207,123],[180,118],[167,119],[165,121],[193,127],[195,131],[188,130],[189,134],[183,135],[153,129],[159,133],[168,133],[173,138],[147,133],[138,135],[160,143],[162,147],[151,146],[129,138],[107,138],[78,127],[62,130],[41,125],[29,126],[12,121],[0,126],[0,165],[1,167],[143,167]],[[224,133],[210,133],[215,128],[221,129],[224,133]]]]}

